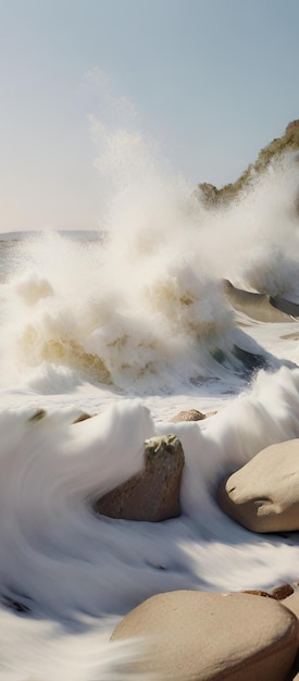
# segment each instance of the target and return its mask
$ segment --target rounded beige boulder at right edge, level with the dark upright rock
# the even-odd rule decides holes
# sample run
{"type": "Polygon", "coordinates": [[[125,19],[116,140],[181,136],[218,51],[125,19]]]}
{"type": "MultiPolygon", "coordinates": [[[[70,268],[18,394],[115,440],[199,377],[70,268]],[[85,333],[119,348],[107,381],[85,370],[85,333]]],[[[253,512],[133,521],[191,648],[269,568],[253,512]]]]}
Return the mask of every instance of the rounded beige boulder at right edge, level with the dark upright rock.
{"type": "Polygon", "coordinates": [[[217,502],[253,532],[299,530],[299,439],[262,449],[222,482],[217,502]]]}

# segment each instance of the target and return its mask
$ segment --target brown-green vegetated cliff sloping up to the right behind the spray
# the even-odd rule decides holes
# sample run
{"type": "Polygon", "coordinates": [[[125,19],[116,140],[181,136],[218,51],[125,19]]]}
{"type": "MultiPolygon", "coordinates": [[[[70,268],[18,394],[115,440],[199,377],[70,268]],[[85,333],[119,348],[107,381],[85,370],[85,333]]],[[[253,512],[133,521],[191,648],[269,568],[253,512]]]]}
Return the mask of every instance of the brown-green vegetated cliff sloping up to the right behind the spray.
{"type": "Polygon", "coordinates": [[[249,187],[254,177],[264,172],[273,161],[278,161],[287,151],[296,150],[299,150],[299,120],[288,124],[283,137],[273,139],[270,145],[261,149],[256,163],[250,163],[234,184],[224,185],[217,189],[212,184],[202,183],[197,186],[196,194],[208,206],[223,206],[236,198],[242,189],[249,187]]]}

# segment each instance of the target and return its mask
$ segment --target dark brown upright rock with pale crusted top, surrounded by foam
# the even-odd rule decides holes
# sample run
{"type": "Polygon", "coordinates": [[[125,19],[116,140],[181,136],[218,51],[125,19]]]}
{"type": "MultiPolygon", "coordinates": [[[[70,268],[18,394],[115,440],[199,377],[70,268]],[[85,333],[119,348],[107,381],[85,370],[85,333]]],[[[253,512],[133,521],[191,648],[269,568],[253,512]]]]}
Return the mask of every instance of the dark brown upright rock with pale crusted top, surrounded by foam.
{"type": "Polygon", "coordinates": [[[145,468],[94,505],[97,513],[159,522],[180,515],[179,486],[185,456],[176,435],[145,442],[145,468]]]}

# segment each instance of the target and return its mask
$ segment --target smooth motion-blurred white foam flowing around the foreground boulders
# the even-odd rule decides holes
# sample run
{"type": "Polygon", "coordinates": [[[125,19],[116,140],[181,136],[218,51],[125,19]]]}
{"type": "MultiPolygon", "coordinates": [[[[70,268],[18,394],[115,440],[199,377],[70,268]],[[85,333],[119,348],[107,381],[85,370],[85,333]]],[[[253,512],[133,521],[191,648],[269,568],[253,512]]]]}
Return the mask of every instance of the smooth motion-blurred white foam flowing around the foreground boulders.
{"type": "Polygon", "coordinates": [[[261,372],[251,391],[202,423],[154,423],[139,400],[120,400],[74,425],[66,408],[40,420],[28,407],[2,411],[0,583],[4,605],[12,598],[30,609],[18,617],[2,614],[14,640],[25,632],[20,658],[9,655],[12,669],[22,663],[29,673],[35,656],[26,642],[38,641],[35,672],[53,655],[51,671],[65,670],[71,679],[78,653],[70,664],[66,657],[79,640],[74,678],[98,678],[100,669],[104,679],[113,657],[107,642],[111,616],[147,596],[182,587],[269,589],[298,578],[296,536],[253,535],[224,517],[214,500],[222,475],[272,442],[299,436],[298,389],[298,370],[261,372]],[[159,524],[94,516],[94,495],[139,470],[144,439],[166,432],[180,437],[186,456],[183,516],[159,524]]]}

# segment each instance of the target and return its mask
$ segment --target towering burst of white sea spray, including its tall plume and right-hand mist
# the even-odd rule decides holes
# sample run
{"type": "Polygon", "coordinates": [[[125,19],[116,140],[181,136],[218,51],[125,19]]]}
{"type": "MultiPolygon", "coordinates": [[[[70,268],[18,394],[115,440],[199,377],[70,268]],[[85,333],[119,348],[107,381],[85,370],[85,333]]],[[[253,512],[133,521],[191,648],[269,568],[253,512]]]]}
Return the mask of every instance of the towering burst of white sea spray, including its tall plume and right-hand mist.
{"type": "Polygon", "coordinates": [[[78,383],[88,376],[146,394],[239,371],[223,278],[296,294],[296,156],[269,166],[236,202],[209,210],[100,81],[103,120],[90,121],[105,236],[21,245],[2,292],[3,380],[30,380],[46,362],[78,383]]]}

